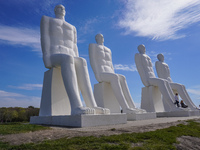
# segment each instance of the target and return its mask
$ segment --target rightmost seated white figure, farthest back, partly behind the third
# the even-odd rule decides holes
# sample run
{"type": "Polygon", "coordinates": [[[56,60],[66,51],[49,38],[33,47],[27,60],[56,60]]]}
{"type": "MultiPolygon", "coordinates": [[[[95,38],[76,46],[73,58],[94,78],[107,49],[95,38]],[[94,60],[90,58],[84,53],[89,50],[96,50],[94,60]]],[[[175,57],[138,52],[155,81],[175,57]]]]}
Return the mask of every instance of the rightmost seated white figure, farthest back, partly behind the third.
{"type": "Polygon", "coordinates": [[[182,84],[174,83],[172,81],[171,76],[170,76],[169,66],[164,62],[163,54],[158,54],[157,58],[159,61],[156,61],[155,66],[156,66],[158,77],[162,79],[166,79],[169,82],[172,90],[174,92],[177,92],[180,95],[180,97],[183,99],[183,101],[188,105],[188,107],[191,110],[197,110],[197,107],[190,99],[190,96],[188,95],[185,89],[185,86],[182,84]]]}

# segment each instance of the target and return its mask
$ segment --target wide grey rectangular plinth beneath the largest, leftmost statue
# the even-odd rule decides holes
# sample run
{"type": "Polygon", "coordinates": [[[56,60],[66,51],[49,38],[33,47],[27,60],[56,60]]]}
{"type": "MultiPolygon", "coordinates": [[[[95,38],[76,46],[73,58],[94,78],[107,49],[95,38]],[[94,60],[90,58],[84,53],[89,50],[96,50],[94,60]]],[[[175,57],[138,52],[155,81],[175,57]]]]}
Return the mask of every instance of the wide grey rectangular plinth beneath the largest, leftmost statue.
{"type": "Polygon", "coordinates": [[[66,127],[93,127],[114,124],[126,124],[126,114],[111,115],[66,115],[66,116],[33,116],[30,124],[66,126],[66,127]]]}

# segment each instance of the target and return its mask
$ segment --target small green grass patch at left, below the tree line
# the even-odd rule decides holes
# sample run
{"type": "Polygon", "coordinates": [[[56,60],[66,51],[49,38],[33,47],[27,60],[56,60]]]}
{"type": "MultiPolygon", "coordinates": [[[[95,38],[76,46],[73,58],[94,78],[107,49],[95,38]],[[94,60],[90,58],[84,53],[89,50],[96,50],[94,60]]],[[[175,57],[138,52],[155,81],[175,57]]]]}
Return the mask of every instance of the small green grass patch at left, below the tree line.
{"type": "Polygon", "coordinates": [[[50,129],[50,128],[40,126],[40,125],[32,125],[32,124],[20,123],[20,122],[4,123],[4,124],[0,124],[0,135],[24,133],[24,132],[45,130],[45,129],[50,129]]]}

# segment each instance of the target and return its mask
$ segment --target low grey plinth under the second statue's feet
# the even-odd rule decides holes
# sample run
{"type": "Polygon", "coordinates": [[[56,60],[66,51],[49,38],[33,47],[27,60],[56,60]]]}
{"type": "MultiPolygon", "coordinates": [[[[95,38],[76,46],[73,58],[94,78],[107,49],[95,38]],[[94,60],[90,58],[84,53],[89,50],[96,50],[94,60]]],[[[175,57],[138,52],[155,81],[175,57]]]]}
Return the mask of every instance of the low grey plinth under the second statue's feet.
{"type": "Polygon", "coordinates": [[[156,113],[127,114],[128,121],[156,119],[156,113]]]}

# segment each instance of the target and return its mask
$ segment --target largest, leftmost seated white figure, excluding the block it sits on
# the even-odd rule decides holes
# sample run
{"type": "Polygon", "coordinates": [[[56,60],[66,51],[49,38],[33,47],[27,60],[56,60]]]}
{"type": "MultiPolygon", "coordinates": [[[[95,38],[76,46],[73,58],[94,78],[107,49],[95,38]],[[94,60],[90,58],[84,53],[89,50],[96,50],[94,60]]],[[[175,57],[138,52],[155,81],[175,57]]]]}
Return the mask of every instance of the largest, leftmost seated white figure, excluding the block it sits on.
{"type": "MultiPolygon", "coordinates": [[[[96,105],[86,60],[78,54],[76,28],[65,21],[65,7],[57,5],[54,12],[55,18],[43,16],[41,19],[41,46],[45,67],[61,68],[64,88],[71,106],[71,115],[109,114],[109,109],[96,105]],[[82,104],[79,90],[87,107],[82,104]]],[[[60,107],[63,107],[63,104],[60,103],[60,107]]],[[[54,104],[51,105],[54,107],[54,104]]],[[[59,105],[55,110],[60,109],[59,105]]],[[[46,113],[41,113],[41,116],[43,114],[46,113]]]]}

